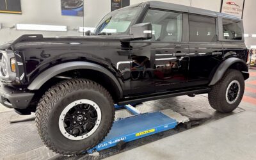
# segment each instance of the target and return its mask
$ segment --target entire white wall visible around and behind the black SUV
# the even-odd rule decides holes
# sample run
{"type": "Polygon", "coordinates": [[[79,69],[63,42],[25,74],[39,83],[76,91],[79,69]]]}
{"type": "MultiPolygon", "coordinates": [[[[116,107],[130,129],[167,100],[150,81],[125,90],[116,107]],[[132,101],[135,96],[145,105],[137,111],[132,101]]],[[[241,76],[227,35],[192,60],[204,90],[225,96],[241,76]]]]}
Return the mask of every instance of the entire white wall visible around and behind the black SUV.
{"type": "MultiPolygon", "coordinates": [[[[95,27],[106,13],[110,12],[111,0],[85,0],[84,1],[84,26],[95,27]]],[[[131,4],[148,0],[130,0],[131,4]]],[[[168,3],[183,4],[220,12],[221,0],[159,0],[168,3]]],[[[61,15],[60,0],[21,0],[22,15],[0,13],[0,44],[13,40],[20,35],[40,33],[44,36],[82,35],[75,28],[83,26],[83,17],[61,15]],[[17,23],[27,24],[53,24],[68,26],[67,32],[51,31],[17,31],[10,29],[17,23]]],[[[255,0],[245,0],[244,6],[244,32],[256,34],[255,0]]],[[[256,38],[246,38],[246,45],[256,45],[256,38]]]]}

